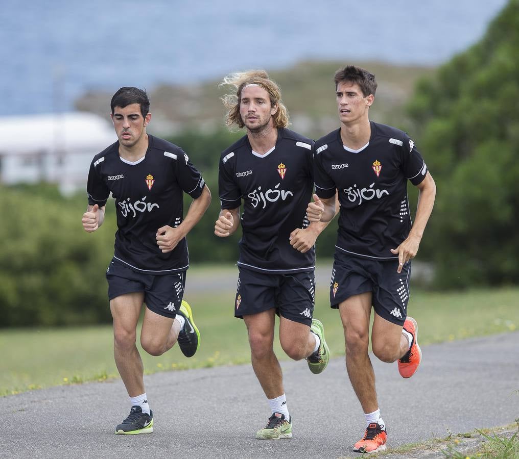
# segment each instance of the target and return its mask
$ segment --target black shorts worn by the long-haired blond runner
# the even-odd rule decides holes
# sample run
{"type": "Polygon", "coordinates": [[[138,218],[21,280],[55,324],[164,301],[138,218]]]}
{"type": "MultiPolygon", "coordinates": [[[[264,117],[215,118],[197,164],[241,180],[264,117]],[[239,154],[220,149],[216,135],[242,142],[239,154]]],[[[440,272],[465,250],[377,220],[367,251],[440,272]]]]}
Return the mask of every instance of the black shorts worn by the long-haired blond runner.
{"type": "Polygon", "coordinates": [[[276,308],[276,313],[285,319],[311,325],[316,285],[313,271],[263,274],[239,270],[235,317],[243,319],[244,315],[276,308]]]}

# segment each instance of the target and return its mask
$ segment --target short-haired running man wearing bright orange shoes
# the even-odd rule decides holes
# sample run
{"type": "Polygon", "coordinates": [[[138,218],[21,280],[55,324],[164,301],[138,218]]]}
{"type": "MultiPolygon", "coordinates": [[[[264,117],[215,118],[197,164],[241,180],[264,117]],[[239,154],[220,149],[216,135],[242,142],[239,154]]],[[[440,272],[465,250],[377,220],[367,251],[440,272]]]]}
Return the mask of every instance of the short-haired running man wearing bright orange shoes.
{"type": "Polygon", "coordinates": [[[335,74],[340,128],[315,145],[316,195],[307,212],[312,222],[329,221],[340,203],[339,231],[330,285],[331,307],[338,308],[346,340],[346,367],[366,417],[364,437],[354,451],[386,449],[371,344],[383,362],[398,360],[400,374],[413,376],[421,351],[416,321],[407,317],[410,260],[434,204],[436,187],[424,159],[406,133],[368,118],[377,83],[356,66],[335,74]],[[415,222],[409,215],[407,180],[419,190],[415,222]]]}

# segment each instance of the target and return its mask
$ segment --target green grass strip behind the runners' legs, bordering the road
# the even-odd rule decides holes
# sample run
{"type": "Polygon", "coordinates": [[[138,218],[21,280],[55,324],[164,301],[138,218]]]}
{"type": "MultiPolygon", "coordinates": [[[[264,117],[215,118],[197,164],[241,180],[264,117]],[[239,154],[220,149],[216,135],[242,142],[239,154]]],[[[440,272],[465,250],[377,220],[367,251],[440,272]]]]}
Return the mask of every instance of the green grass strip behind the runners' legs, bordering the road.
{"type": "MultiPolygon", "coordinates": [[[[198,353],[187,359],[176,346],[160,357],[141,352],[146,373],[250,362],[245,327],[233,317],[234,289],[234,284],[223,292],[190,288],[186,299],[202,334],[198,353]]],[[[519,326],[518,294],[519,288],[461,293],[414,290],[409,315],[420,324],[421,345],[508,332],[519,326]]],[[[314,315],[325,326],[332,355],[344,355],[343,328],[337,310],[329,307],[326,288],[318,289],[314,315]]],[[[118,377],[110,325],[2,329],[0,349],[0,395],[118,377]]],[[[280,360],[288,359],[278,340],[276,350],[280,360]]]]}

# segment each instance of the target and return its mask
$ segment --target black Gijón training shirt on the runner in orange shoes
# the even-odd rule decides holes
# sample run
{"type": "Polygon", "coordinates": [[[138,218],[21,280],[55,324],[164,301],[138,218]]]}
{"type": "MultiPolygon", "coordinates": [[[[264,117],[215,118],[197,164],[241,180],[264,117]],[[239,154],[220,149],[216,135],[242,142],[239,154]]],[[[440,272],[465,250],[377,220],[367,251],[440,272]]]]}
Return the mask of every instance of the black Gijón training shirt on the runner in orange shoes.
{"type": "Polygon", "coordinates": [[[388,260],[411,230],[407,180],[418,185],[427,166],[413,140],[397,128],[371,122],[371,137],[357,152],[345,149],[340,129],[315,144],[316,193],[340,202],[338,250],[388,260]]]}

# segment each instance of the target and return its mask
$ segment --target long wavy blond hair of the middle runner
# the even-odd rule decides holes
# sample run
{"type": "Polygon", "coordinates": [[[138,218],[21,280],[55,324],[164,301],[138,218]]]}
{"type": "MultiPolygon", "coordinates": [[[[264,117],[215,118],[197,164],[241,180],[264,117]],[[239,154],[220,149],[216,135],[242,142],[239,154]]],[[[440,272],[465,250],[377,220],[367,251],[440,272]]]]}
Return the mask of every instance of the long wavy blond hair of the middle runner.
{"type": "Polygon", "coordinates": [[[248,84],[257,84],[261,86],[270,96],[270,104],[277,106],[278,110],[272,115],[274,127],[286,127],[290,124],[289,112],[281,102],[281,88],[272,81],[265,70],[248,70],[244,72],[236,72],[227,75],[218,85],[230,86],[234,88],[236,93],[225,94],[221,97],[225,108],[228,110],[225,116],[225,124],[229,129],[233,130],[236,125],[239,128],[244,126],[240,115],[241,91],[248,84]]]}

